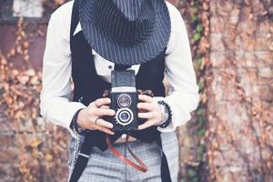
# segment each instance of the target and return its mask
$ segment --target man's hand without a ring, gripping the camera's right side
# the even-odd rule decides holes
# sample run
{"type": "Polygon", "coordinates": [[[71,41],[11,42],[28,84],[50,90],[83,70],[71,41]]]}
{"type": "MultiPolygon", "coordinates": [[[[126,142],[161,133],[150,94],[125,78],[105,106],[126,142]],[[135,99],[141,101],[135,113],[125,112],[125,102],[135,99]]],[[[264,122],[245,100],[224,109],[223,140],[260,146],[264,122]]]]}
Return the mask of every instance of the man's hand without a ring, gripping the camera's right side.
{"type": "Polygon", "coordinates": [[[138,129],[145,129],[149,126],[156,126],[161,122],[161,110],[157,101],[151,96],[138,95],[139,101],[142,101],[137,104],[138,108],[138,117],[147,119],[147,121],[138,126],[138,129]],[[145,112],[146,111],[146,112],[145,112]]]}

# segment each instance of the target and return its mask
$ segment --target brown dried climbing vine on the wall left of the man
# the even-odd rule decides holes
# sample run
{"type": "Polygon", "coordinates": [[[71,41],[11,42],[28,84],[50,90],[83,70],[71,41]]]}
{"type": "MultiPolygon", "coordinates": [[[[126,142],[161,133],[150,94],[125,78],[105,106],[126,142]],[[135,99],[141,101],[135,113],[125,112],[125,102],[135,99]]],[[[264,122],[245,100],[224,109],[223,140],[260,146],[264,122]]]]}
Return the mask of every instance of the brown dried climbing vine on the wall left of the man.
{"type": "MultiPolygon", "coordinates": [[[[55,1],[54,5],[59,3],[55,1]]],[[[4,108],[1,114],[6,118],[1,125],[8,128],[7,134],[15,144],[14,163],[18,170],[15,178],[18,181],[55,181],[67,174],[64,167],[68,143],[66,131],[45,123],[39,116],[42,72],[35,70],[30,63],[31,43],[28,41],[30,34],[25,32],[26,26],[24,19],[19,18],[15,45],[7,53],[0,49],[0,106],[4,108]],[[15,57],[20,58],[20,64],[14,64],[15,57]]],[[[31,35],[44,36],[45,33],[37,29],[31,35]]]]}

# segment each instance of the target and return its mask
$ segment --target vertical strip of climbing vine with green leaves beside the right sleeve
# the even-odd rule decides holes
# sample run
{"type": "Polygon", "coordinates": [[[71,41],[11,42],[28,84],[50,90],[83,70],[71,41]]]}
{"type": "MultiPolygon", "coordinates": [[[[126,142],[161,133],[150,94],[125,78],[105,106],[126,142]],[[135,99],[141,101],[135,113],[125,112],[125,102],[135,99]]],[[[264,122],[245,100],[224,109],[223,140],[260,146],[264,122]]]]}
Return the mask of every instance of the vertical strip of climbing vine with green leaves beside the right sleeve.
{"type": "MultiPolygon", "coordinates": [[[[187,160],[180,161],[186,165],[186,170],[181,175],[181,181],[185,182],[195,182],[204,180],[207,176],[203,174],[203,168],[205,164],[205,143],[204,137],[206,134],[206,104],[207,104],[207,95],[206,95],[206,79],[205,79],[205,70],[208,65],[208,53],[209,53],[209,1],[190,1],[183,2],[183,7],[179,9],[185,10],[186,17],[188,22],[188,33],[190,35],[190,44],[191,51],[193,56],[193,64],[197,74],[197,85],[199,86],[199,95],[200,103],[195,112],[193,124],[190,124],[189,137],[195,138],[195,150],[191,150],[194,157],[187,157],[187,160]],[[188,16],[188,17],[187,17],[188,16]]],[[[182,12],[183,15],[183,12],[182,12]]],[[[182,136],[183,137],[183,136],[182,136]]],[[[183,150],[183,147],[181,148],[183,150]]]]}

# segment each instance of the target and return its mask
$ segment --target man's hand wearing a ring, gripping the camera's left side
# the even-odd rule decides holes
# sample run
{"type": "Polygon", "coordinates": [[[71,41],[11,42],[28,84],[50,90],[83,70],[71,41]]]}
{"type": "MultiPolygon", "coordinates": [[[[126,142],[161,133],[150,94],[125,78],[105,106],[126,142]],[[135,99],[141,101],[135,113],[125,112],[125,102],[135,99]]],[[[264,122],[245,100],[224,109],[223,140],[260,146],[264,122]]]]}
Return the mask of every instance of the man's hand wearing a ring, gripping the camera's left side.
{"type": "Polygon", "coordinates": [[[102,119],[103,116],[115,116],[116,112],[109,109],[110,98],[98,98],[86,108],[82,109],[76,119],[78,126],[89,130],[100,130],[109,135],[115,133],[111,131],[113,124],[102,119]]]}

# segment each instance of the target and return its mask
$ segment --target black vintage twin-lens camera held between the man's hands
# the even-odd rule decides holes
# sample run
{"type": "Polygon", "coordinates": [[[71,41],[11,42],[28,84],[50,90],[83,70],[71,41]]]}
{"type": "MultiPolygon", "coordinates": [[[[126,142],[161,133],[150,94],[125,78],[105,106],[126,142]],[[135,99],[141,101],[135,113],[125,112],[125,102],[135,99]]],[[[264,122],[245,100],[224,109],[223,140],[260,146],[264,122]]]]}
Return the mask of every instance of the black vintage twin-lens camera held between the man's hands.
{"type": "Polygon", "coordinates": [[[136,76],[134,70],[111,72],[110,108],[116,111],[116,116],[109,118],[114,125],[113,131],[135,130],[138,127],[136,91],[136,76]]]}

